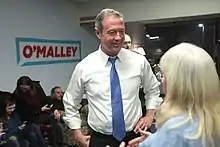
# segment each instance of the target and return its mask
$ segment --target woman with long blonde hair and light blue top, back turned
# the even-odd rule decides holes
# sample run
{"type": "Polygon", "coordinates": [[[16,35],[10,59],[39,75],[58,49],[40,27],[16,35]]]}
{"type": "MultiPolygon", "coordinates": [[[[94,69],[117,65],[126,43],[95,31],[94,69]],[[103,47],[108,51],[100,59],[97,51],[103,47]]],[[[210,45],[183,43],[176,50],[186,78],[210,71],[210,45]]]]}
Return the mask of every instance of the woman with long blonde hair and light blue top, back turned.
{"type": "Polygon", "coordinates": [[[166,97],[156,114],[158,130],[139,130],[143,136],[128,147],[219,147],[220,83],[212,58],[181,43],[164,54],[160,66],[166,97]]]}

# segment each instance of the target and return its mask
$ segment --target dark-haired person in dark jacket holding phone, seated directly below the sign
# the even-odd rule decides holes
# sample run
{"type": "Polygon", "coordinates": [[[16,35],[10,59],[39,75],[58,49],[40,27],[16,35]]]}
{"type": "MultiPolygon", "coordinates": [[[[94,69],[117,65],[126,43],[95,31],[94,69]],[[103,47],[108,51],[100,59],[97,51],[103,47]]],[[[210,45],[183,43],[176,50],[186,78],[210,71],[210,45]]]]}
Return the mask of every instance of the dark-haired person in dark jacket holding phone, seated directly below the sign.
{"type": "Polygon", "coordinates": [[[38,145],[47,147],[38,122],[39,116],[50,110],[50,104],[39,82],[32,81],[28,76],[20,77],[12,98],[21,120],[26,121],[31,126],[29,129],[36,134],[38,145]]]}

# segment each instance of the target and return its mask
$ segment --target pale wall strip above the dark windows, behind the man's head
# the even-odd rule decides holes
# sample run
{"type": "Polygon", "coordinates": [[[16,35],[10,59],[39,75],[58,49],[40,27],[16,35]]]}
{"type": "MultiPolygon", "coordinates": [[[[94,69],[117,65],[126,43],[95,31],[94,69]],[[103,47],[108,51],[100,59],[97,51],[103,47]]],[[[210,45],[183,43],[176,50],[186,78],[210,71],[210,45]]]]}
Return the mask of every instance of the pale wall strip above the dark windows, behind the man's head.
{"type": "Polygon", "coordinates": [[[220,0],[97,1],[80,5],[80,16],[94,16],[103,8],[117,9],[128,22],[220,13],[220,0]]]}

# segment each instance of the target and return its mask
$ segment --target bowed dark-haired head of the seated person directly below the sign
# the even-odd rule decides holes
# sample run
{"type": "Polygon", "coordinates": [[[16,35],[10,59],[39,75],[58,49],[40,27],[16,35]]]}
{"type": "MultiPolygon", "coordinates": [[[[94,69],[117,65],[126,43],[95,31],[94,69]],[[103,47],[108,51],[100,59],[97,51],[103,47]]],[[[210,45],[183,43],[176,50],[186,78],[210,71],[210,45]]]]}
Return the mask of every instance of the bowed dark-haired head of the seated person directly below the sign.
{"type": "Polygon", "coordinates": [[[22,76],[17,81],[17,89],[22,92],[26,93],[31,90],[33,81],[28,76],[22,76]]]}

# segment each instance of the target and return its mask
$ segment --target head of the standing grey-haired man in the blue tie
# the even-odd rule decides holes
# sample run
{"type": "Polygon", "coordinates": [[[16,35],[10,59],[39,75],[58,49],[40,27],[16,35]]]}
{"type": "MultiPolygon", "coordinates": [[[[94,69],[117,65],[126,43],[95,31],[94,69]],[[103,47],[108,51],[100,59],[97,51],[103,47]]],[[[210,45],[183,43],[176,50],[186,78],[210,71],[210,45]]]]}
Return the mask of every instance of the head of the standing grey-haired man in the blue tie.
{"type": "Polygon", "coordinates": [[[125,24],[120,12],[103,9],[95,20],[96,36],[101,49],[109,56],[116,56],[124,43],[125,24]]]}

